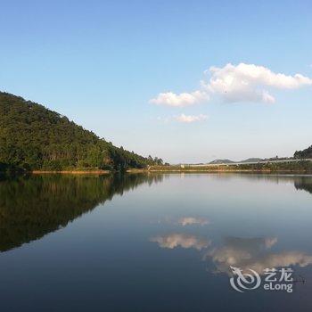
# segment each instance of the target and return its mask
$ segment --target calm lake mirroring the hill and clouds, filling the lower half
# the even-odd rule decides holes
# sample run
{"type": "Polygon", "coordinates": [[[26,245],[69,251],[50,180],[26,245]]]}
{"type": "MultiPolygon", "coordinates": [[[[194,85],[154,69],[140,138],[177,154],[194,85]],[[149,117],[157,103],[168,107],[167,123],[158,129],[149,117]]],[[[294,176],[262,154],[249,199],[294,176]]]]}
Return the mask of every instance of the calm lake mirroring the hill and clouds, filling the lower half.
{"type": "Polygon", "coordinates": [[[2,178],[0,276],[5,312],[311,311],[312,177],[2,178]]]}

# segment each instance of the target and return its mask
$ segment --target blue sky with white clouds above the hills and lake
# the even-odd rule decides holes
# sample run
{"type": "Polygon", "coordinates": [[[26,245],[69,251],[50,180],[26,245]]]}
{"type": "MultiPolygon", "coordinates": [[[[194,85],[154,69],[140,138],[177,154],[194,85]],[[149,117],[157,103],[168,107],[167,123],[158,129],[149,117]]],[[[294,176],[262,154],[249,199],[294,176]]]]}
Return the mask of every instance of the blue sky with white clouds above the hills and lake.
{"type": "Polygon", "coordinates": [[[0,3],[0,89],[118,146],[201,162],[312,144],[310,1],[0,3]],[[211,78],[252,86],[220,89],[211,78]],[[196,91],[204,98],[181,102],[196,91]],[[176,106],[151,101],[168,92],[176,106]]]}

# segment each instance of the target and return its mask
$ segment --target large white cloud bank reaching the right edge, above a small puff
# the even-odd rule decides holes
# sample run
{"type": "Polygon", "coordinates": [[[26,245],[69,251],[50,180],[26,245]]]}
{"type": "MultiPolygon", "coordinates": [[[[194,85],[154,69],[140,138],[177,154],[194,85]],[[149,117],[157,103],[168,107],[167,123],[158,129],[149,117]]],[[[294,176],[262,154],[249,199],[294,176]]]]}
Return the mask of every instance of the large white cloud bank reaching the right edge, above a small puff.
{"type": "Polygon", "coordinates": [[[160,93],[150,103],[183,107],[207,102],[211,97],[220,97],[227,103],[260,102],[275,103],[275,97],[267,89],[295,89],[312,86],[312,79],[301,74],[275,73],[263,66],[240,63],[226,64],[222,68],[210,67],[208,81],[201,81],[201,88],[192,93],[160,93]]]}

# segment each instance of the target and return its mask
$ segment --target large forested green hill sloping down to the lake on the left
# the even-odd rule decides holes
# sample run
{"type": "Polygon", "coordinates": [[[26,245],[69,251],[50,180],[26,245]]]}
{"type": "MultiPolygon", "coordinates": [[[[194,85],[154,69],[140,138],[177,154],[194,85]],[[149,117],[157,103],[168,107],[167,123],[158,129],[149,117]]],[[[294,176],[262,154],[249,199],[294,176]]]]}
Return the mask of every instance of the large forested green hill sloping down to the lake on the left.
{"type": "Polygon", "coordinates": [[[0,92],[0,171],[120,170],[161,163],[117,148],[42,105],[0,92]]]}

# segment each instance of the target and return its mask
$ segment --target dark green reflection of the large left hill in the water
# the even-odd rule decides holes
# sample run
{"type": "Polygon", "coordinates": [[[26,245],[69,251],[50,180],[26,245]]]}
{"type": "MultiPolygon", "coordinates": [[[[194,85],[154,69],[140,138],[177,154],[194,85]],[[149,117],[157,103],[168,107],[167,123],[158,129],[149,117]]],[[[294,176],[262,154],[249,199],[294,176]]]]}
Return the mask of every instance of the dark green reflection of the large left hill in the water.
{"type": "Polygon", "coordinates": [[[0,251],[37,240],[159,175],[32,176],[0,181],[0,251]]]}

